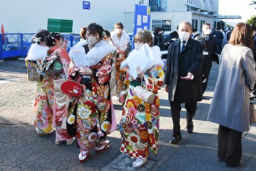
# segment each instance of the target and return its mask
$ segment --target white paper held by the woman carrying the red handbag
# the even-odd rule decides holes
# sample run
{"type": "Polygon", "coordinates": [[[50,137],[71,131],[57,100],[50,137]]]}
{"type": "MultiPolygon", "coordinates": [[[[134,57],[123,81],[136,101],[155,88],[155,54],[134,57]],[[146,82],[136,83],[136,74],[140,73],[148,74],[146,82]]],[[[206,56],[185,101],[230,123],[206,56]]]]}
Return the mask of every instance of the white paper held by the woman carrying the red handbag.
{"type": "Polygon", "coordinates": [[[73,47],[72,51],[72,57],[76,67],[82,68],[88,65],[86,51],[84,51],[83,47],[73,47]]]}

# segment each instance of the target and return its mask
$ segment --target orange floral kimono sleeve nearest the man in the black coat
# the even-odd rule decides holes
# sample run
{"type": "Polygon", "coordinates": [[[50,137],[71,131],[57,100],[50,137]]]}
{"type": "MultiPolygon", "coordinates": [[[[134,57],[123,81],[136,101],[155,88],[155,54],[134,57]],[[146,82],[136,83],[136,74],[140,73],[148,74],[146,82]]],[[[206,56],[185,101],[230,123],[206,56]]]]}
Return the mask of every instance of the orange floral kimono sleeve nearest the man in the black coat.
{"type": "Polygon", "coordinates": [[[146,83],[146,89],[153,90],[154,94],[157,93],[164,83],[164,72],[160,66],[154,66],[149,74],[144,75],[144,80],[146,83]]]}

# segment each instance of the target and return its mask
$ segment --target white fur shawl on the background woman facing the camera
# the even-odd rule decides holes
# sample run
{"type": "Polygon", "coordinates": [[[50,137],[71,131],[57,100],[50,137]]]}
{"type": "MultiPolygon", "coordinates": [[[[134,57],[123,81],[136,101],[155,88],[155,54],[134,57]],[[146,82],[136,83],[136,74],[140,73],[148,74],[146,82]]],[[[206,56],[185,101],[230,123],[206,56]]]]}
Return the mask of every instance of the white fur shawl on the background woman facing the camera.
{"type": "Polygon", "coordinates": [[[115,31],[111,32],[111,38],[112,44],[114,43],[114,45],[112,45],[113,47],[115,47],[116,49],[119,49],[120,51],[125,51],[127,49],[127,44],[129,44],[130,41],[130,36],[128,33],[126,33],[125,31],[122,31],[121,33],[121,39],[119,40],[117,37],[117,33],[115,31]]]}

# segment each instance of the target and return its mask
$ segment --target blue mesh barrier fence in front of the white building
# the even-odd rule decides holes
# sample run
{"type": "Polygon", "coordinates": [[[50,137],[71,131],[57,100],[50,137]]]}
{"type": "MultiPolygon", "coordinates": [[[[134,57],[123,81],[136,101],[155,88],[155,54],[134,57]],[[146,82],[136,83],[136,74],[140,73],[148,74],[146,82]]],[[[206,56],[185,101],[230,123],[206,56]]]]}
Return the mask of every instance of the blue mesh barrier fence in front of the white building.
{"type": "MultiPolygon", "coordinates": [[[[0,34],[0,60],[8,57],[25,57],[32,44],[32,37],[35,33],[7,33],[0,34]]],[[[61,34],[68,41],[67,50],[75,46],[80,40],[77,34],[61,34]]],[[[133,36],[130,35],[130,45],[132,45],[133,36]]]]}

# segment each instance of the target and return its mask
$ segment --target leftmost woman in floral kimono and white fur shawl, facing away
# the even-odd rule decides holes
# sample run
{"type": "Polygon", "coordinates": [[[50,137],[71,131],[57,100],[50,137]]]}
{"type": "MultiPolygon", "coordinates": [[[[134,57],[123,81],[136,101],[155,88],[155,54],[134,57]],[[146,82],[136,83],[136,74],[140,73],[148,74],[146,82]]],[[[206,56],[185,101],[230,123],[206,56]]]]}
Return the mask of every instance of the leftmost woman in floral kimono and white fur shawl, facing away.
{"type": "MultiPolygon", "coordinates": [[[[40,30],[32,38],[32,45],[26,57],[26,65],[33,63],[33,65],[41,70],[42,58],[47,56],[45,38],[50,33],[47,30],[40,30]]],[[[38,136],[50,135],[52,131],[52,107],[53,107],[53,84],[47,81],[44,77],[35,82],[35,96],[34,96],[34,125],[38,136]]]]}

